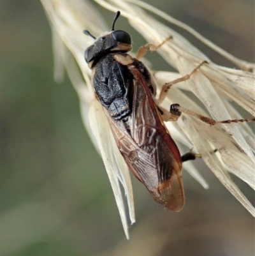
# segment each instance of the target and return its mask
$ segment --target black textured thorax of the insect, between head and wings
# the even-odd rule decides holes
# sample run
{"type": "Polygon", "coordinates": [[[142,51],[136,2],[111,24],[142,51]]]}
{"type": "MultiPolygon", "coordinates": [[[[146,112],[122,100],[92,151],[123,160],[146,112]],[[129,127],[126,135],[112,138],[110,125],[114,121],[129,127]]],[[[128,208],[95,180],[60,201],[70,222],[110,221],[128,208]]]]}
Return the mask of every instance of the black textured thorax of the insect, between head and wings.
{"type": "MultiPolygon", "coordinates": [[[[126,55],[122,52],[114,52],[101,56],[94,66],[93,84],[102,105],[106,107],[110,116],[119,120],[129,116],[132,112],[133,74],[126,65],[122,65],[113,59],[115,54],[126,55]]],[[[153,93],[153,87],[150,84],[150,73],[147,68],[138,60],[133,64],[143,73],[143,77],[153,93]]]]}

